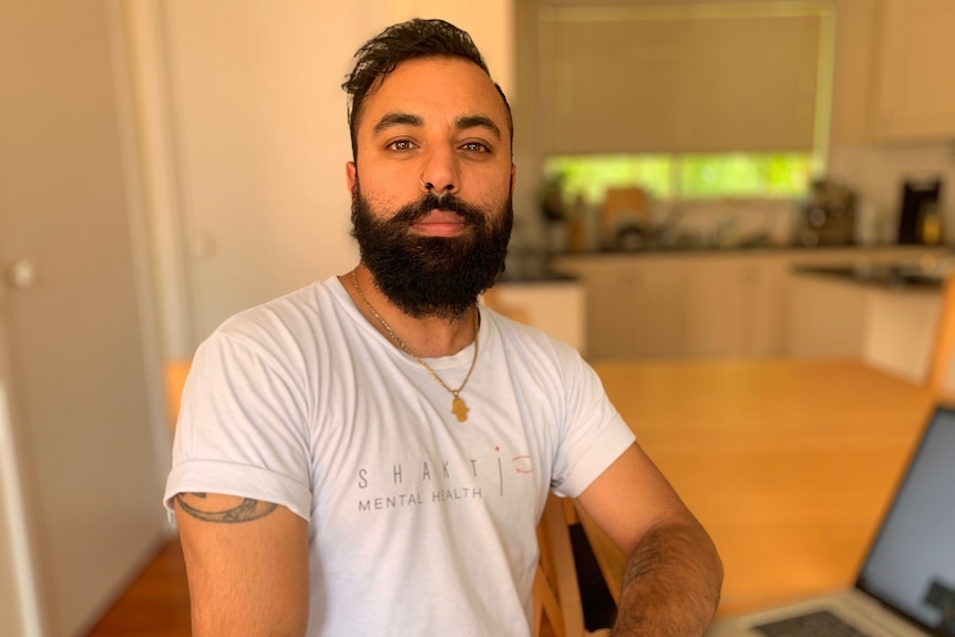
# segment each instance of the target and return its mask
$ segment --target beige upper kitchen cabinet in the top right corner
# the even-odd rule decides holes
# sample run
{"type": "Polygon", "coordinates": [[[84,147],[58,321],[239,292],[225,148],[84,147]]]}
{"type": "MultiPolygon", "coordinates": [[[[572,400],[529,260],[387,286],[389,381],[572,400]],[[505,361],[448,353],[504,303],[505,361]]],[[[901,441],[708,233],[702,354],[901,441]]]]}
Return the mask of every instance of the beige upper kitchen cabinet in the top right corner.
{"type": "Polygon", "coordinates": [[[873,137],[955,136],[955,2],[883,0],[879,30],[873,137]]]}

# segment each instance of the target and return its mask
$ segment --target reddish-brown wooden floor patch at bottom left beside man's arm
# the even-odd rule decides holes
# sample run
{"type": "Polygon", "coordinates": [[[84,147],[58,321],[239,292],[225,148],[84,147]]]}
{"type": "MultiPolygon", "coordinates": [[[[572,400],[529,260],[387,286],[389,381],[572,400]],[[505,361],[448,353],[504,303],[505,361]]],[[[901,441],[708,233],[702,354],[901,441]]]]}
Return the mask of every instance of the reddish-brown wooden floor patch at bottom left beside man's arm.
{"type": "Polygon", "coordinates": [[[130,585],[88,637],[191,637],[189,593],[178,541],[130,585]]]}

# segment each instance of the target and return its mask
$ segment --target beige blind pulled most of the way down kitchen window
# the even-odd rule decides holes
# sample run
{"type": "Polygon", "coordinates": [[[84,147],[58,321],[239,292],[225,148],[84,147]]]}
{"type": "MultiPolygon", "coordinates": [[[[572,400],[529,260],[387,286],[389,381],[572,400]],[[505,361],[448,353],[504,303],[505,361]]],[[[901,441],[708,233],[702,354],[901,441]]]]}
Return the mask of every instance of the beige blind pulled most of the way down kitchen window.
{"type": "Polygon", "coordinates": [[[545,153],[812,151],[819,91],[826,90],[825,8],[544,9],[545,153]]]}

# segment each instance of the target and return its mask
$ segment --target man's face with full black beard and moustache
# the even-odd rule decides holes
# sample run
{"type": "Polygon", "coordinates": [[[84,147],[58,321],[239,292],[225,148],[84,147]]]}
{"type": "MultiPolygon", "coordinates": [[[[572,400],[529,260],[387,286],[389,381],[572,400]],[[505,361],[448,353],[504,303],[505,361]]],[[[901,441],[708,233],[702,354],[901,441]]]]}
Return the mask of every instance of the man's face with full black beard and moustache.
{"type": "Polygon", "coordinates": [[[494,84],[463,60],[403,62],[366,97],[358,164],[348,164],[353,234],[378,287],[408,314],[453,318],[500,273],[513,218],[509,135],[494,84]]]}

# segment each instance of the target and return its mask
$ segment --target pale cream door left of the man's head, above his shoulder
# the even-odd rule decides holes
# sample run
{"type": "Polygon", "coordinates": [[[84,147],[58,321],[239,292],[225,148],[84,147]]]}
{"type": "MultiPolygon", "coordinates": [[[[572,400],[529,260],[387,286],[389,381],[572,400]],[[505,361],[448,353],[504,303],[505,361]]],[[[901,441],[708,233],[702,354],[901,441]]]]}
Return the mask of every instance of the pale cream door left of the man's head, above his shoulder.
{"type": "Polygon", "coordinates": [[[376,27],[361,4],[160,6],[192,347],[230,315],[356,261],[340,85],[376,27]]]}

